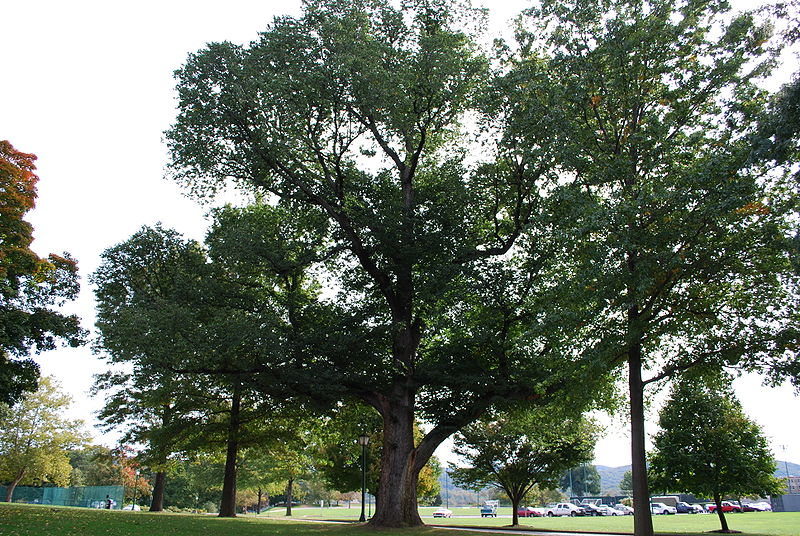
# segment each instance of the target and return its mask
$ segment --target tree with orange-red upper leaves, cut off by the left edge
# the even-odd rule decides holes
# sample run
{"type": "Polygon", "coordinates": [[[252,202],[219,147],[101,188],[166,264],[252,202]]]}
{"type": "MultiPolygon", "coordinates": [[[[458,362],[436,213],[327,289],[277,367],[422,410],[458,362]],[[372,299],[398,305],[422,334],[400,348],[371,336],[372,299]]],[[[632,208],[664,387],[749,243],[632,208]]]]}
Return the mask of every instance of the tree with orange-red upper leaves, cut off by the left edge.
{"type": "Polygon", "coordinates": [[[69,255],[42,259],[30,247],[33,226],[24,217],[36,200],[35,160],[0,141],[0,403],[9,405],[36,390],[31,351],[52,349],[59,339],[78,346],[84,336],[76,316],[52,309],[77,296],[76,262],[69,255]]]}

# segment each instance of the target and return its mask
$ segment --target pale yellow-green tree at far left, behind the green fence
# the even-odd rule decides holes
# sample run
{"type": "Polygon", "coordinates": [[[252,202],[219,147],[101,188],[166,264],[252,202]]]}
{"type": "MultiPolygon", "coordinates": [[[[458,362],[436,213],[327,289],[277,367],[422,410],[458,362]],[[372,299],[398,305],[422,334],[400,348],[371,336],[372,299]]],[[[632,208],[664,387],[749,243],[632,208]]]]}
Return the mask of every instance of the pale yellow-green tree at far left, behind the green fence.
{"type": "Polygon", "coordinates": [[[6,502],[20,483],[69,482],[69,451],[87,440],[82,421],[63,417],[70,403],[55,380],[44,377],[17,405],[0,407],[0,479],[10,482],[6,502]]]}

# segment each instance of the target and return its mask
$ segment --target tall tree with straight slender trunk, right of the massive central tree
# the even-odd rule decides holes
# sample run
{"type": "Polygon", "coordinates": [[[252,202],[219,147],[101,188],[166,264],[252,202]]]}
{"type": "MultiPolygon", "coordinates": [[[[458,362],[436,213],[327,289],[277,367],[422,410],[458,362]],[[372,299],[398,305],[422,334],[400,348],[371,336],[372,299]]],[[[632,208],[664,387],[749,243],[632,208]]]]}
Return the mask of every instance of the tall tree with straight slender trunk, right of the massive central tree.
{"type": "Polygon", "coordinates": [[[582,355],[627,368],[635,533],[649,536],[645,387],[783,355],[789,310],[772,305],[790,303],[793,194],[749,138],[769,25],[724,0],[552,0],[530,14],[508,58],[509,143],[556,151],[573,253],[558,290],[584,315],[582,355]]]}

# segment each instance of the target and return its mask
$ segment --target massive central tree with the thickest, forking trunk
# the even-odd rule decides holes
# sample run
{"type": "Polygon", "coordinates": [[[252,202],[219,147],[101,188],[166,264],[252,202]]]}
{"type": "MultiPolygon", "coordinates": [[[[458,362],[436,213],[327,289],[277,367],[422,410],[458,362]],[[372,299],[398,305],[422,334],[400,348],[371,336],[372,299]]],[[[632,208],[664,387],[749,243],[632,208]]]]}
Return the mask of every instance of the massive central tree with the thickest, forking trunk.
{"type": "MultiPolygon", "coordinates": [[[[475,97],[489,70],[459,29],[475,22],[462,3],[304,7],[250,46],[215,43],[189,57],[167,132],[171,170],[200,196],[233,179],[321,218],[315,234],[338,253],[330,273],[342,307],[321,353],[293,363],[296,385],[380,413],[371,523],[419,525],[417,481],[436,447],[494,401],[544,397],[563,375],[545,370],[555,359],[547,345],[509,329],[543,263],[536,254],[532,275],[505,296],[508,323],[469,336],[481,316],[470,309],[494,282],[476,274],[511,257],[538,217],[549,155],[507,149],[498,163],[471,165],[478,153],[462,127],[484,113],[475,97]],[[419,442],[416,418],[431,424],[419,442]]],[[[539,238],[532,249],[544,247],[539,238]]]]}

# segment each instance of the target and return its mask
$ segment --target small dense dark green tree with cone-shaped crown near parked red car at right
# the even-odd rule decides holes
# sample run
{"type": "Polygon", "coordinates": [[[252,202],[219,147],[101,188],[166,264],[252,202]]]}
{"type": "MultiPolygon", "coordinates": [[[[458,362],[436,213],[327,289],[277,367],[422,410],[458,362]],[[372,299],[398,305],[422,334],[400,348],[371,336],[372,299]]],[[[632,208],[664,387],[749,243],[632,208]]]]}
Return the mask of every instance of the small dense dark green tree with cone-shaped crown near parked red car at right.
{"type": "Polygon", "coordinates": [[[725,382],[677,383],[659,426],[650,458],[654,488],[713,497],[722,532],[730,532],[723,497],[780,493],[767,439],[725,382]]]}

